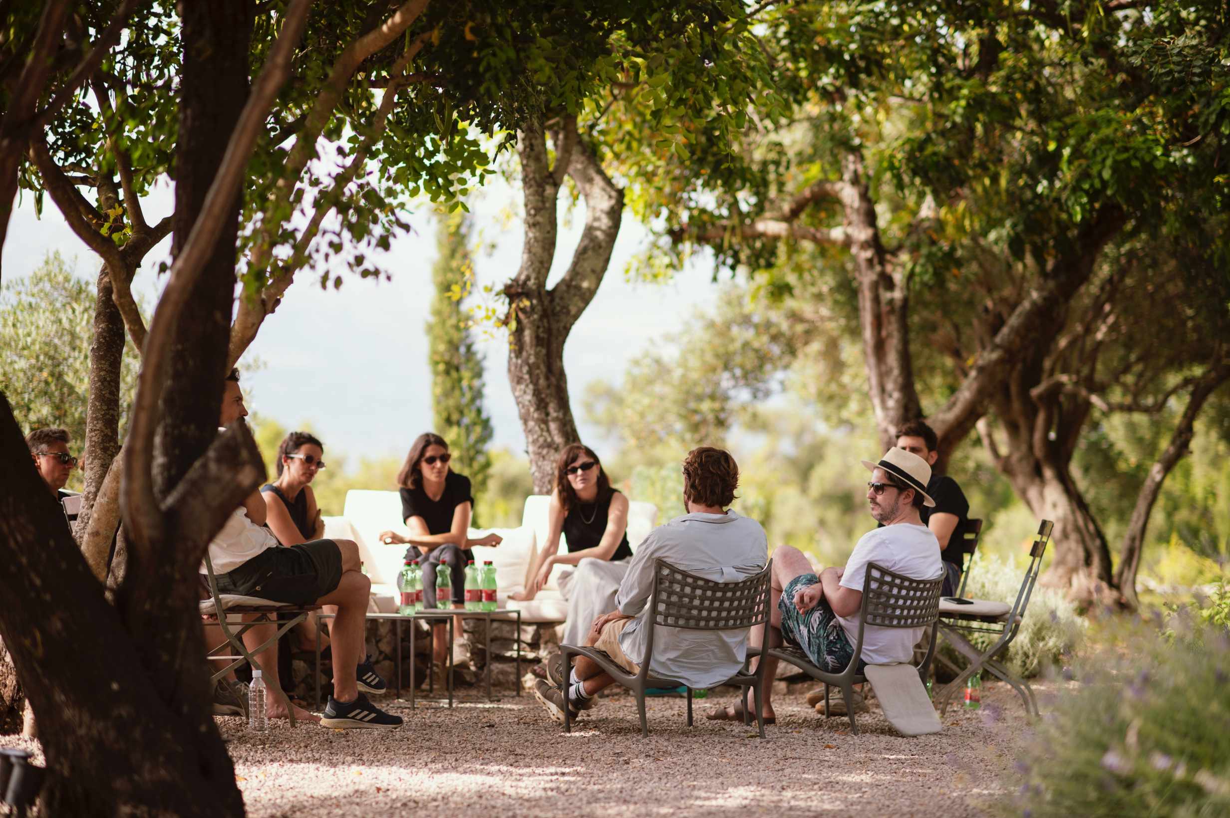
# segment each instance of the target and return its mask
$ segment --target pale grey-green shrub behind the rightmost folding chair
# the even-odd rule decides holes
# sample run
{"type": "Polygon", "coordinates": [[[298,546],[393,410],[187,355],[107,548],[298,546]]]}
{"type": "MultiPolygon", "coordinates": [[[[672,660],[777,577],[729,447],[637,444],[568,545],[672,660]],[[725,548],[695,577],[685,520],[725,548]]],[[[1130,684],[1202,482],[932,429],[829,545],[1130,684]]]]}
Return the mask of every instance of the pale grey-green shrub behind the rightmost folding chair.
{"type": "MultiPolygon", "coordinates": [[[[979,549],[969,572],[966,596],[1011,604],[1023,576],[1023,566],[993,554],[983,554],[979,549]]],[[[1060,666],[1076,646],[1084,629],[1085,620],[1076,614],[1075,607],[1063,593],[1036,586],[1021,631],[1007,649],[1007,664],[1025,677],[1038,676],[1049,667],[1060,666]]],[[[998,639],[991,634],[967,634],[967,637],[982,649],[990,647],[998,639]]],[[[968,663],[943,640],[940,651],[957,667],[968,663]]]]}

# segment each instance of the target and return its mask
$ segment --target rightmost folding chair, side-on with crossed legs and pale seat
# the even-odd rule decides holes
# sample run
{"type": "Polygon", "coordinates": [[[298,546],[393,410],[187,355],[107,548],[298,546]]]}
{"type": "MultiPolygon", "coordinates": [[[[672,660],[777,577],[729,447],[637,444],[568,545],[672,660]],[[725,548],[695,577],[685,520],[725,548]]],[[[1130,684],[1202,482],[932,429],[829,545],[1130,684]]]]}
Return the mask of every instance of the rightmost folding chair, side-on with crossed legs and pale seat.
{"type": "Polygon", "coordinates": [[[1038,533],[1034,534],[1033,544],[1030,547],[1030,565],[1025,570],[1025,578],[1021,580],[1016,602],[1011,606],[1006,602],[986,599],[972,599],[967,604],[948,599],[940,601],[940,631],[962,656],[969,660],[969,666],[936,694],[941,714],[947,711],[952,698],[964,687],[966,680],[985,668],[1007,682],[1020,694],[1026,712],[1039,715],[1038,701],[1033,696],[1030,683],[1009,671],[1000,657],[1006,655],[1009,645],[1021,630],[1025,609],[1030,604],[1033,586],[1038,581],[1042,555],[1047,553],[1047,543],[1050,542],[1050,531],[1054,526],[1049,520],[1043,520],[1038,526],[1038,533]],[[979,650],[966,637],[967,634],[991,634],[998,639],[988,650],[979,650]]]}

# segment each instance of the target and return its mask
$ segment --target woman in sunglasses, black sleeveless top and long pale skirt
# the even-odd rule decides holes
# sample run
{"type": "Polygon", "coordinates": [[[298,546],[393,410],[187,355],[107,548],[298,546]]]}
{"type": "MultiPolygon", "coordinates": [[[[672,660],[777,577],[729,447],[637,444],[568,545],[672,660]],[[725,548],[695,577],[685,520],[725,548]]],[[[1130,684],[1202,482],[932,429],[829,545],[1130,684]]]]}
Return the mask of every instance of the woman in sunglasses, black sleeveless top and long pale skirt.
{"type": "Polygon", "coordinates": [[[547,520],[547,539],[530,576],[534,581],[513,599],[533,599],[542,590],[551,569],[574,565],[560,577],[560,592],[568,601],[563,644],[584,645],[594,619],[615,609],[615,593],[632,559],[627,543],[627,497],[611,486],[593,450],[569,443],[555,467],[555,491],[547,520]],[[568,553],[560,554],[560,534],[568,553]]]}

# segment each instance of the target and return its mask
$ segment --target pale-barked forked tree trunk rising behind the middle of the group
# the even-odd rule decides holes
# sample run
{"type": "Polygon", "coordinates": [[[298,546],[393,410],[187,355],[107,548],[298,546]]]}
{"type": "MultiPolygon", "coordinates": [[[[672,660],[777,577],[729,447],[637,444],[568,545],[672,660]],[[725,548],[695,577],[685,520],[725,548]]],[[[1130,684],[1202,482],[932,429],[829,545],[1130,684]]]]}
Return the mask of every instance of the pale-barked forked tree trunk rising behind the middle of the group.
{"type": "Polygon", "coordinates": [[[528,127],[519,135],[525,246],[520,270],[504,287],[510,325],[508,381],[539,494],[550,494],[555,486],[560,450],[579,440],[568,400],[563,344],[598,292],[624,212],[624,192],[606,177],[593,150],[581,142],[576,120],[565,124],[555,144],[556,167],[547,168],[542,129],[528,127]],[[565,173],[584,197],[585,226],[568,270],[547,290],[556,252],[556,197],[565,173]]]}

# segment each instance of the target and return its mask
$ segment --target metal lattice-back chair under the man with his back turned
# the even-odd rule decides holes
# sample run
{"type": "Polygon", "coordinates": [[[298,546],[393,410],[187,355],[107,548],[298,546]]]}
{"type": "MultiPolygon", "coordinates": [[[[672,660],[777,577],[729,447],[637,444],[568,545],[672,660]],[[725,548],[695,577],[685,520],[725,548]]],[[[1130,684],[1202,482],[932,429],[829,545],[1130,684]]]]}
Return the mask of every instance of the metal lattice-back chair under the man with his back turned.
{"type": "MultiPolygon", "coordinates": [[[[648,737],[649,727],[645,717],[645,691],[649,688],[685,687],[675,679],[663,679],[649,673],[653,662],[654,628],[683,628],[686,630],[747,630],[756,625],[764,628],[763,639],[769,637],[770,571],[772,560],[763,571],[738,582],[717,582],[706,580],[678,569],[663,559],[653,561],[653,594],[649,597],[649,615],[645,619],[645,656],[641,657],[640,672],[631,674],[610,656],[593,647],[579,645],[560,645],[563,656],[563,679],[561,693],[567,701],[568,678],[572,676],[572,660],[577,656],[595,662],[617,683],[636,695],[636,706],[641,712],[641,736],[648,737]]],[[[630,657],[631,658],[631,657],[630,657]]],[[[747,668],[747,662],[743,664],[747,668]]],[[[765,737],[764,720],[760,719],[761,688],[765,683],[764,663],[752,673],[740,669],[723,684],[739,685],[747,696],[747,688],[756,703],[756,723],[760,726],[760,738],[765,737]]],[[[688,726],[692,726],[692,690],[688,688],[688,726]]],[[[744,709],[743,723],[749,715],[744,709]]],[[[563,730],[572,732],[569,707],[563,707],[563,730]]]]}

